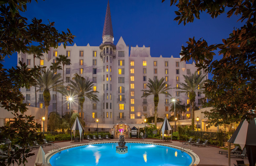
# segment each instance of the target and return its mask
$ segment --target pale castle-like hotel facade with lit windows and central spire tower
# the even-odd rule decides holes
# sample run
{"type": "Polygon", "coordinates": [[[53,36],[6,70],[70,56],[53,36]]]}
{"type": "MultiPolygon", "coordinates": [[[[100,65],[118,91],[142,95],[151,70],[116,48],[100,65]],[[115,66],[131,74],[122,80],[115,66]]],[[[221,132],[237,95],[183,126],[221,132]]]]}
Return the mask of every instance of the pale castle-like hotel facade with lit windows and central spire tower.
{"type": "MultiPolygon", "coordinates": [[[[35,65],[49,68],[56,62],[56,57],[66,55],[71,64],[64,67],[64,85],[68,86],[70,80],[77,73],[93,82],[93,90],[98,91],[99,102],[90,101],[85,98],[84,121],[95,123],[99,119],[101,124],[117,124],[120,121],[127,124],[141,124],[144,118],[154,116],[153,95],[147,98],[141,97],[141,90],[147,89],[148,79],[165,79],[172,89],[168,92],[172,96],[160,94],[157,116],[160,118],[170,117],[171,98],[175,97],[183,103],[189,102],[188,95],[178,93],[176,87],[178,82],[183,82],[183,75],[194,73],[197,68],[195,64],[180,62],[180,58],[174,57],[151,57],[150,47],[131,47],[126,45],[120,37],[117,44],[114,44],[114,35],[110,15],[109,3],[107,5],[105,23],[100,46],[67,46],[61,44],[58,48],[51,48],[44,57],[35,59],[35,65]]],[[[33,55],[19,53],[18,62],[26,63],[33,67],[33,55]]],[[[62,70],[59,70],[61,73],[62,70]]],[[[205,78],[207,79],[207,77],[205,78]]],[[[35,107],[35,88],[21,88],[20,91],[25,97],[24,102],[35,107]]],[[[61,94],[51,91],[51,102],[49,112],[57,111],[61,115],[61,94]],[[56,104],[57,102],[57,104],[56,104]]],[[[63,113],[70,109],[78,112],[77,96],[71,103],[63,98],[63,113]]],[[[200,104],[203,94],[196,95],[196,103],[200,104]]],[[[43,91],[37,92],[37,107],[44,108],[43,91]]],[[[190,118],[191,111],[185,113],[184,118],[190,118]]],[[[183,117],[181,117],[183,119],[183,117]]]]}

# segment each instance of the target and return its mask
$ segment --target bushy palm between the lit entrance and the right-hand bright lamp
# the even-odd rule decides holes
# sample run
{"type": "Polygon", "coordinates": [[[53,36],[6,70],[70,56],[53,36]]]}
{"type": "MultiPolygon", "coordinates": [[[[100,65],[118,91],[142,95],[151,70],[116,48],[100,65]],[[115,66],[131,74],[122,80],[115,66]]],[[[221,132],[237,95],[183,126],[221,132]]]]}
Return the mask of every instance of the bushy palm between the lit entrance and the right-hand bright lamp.
{"type": "Polygon", "coordinates": [[[143,95],[141,97],[148,97],[149,95],[154,95],[154,104],[155,104],[155,126],[157,126],[157,106],[159,102],[159,94],[170,95],[168,90],[171,89],[170,85],[164,82],[164,77],[159,79],[148,79],[147,87],[149,89],[141,90],[143,95]]]}

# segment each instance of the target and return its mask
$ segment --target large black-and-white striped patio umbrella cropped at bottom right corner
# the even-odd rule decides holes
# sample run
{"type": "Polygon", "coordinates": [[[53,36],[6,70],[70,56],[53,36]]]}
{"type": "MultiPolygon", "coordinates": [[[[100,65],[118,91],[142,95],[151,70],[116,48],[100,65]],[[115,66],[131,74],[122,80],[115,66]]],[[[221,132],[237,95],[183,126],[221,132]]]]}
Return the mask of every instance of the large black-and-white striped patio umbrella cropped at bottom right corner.
{"type": "MultiPolygon", "coordinates": [[[[250,166],[256,163],[256,118],[250,120],[250,124],[244,120],[241,121],[236,131],[228,140],[229,143],[239,144],[243,149],[244,146],[247,151],[250,166]]],[[[229,147],[229,146],[228,146],[229,147]]],[[[230,153],[228,153],[230,155],[230,153]]],[[[228,157],[228,165],[230,165],[230,156],[228,157]]]]}

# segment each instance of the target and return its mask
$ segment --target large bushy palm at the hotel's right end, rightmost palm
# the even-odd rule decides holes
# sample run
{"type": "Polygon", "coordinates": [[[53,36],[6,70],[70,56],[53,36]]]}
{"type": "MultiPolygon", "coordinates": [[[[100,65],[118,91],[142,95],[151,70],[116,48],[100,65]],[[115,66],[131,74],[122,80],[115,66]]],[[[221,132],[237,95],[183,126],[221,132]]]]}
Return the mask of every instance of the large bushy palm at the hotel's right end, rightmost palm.
{"type": "Polygon", "coordinates": [[[178,89],[180,89],[180,93],[185,93],[186,95],[189,96],[189,102],[190,105],[192,106],[192,115],[191,115],[191,125],[192,127],[195,126],[195,100],[196,100],[196,93],[198,92],[203,92],[203,87],[204,87],[204,77],[206,75],[202,75],[202,72],[199,72],[199,74],[197,73],[197,71],[195,71],[194,74],[189,74],[187,75],[183,75],[183,77],[185,78],[185,83],[183,82],[178,82],[178,84],[180,84],[180,87],[178,87],[178,89]]]}

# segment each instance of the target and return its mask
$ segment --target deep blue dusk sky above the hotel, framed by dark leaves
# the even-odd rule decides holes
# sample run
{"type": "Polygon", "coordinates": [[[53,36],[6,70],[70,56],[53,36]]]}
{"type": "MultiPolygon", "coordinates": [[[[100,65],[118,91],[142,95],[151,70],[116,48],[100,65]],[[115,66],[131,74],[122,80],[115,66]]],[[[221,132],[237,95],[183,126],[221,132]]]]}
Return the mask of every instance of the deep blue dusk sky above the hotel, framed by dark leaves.
{"type": "MultiPolygon", "coordinates": [[[[176,6],[170,7],[170,0],[109,0],[114,44],[122,36],[126,45],[135,47],[150,46],[151,57],[179,57],[182,44],[186,46],[189,37],[196,40],[204,38],[208,45],[222,43],[228,38],[234,27],[243,24],[236,22],[240,17],[232,16],[228,19],[224,13],[217,19],[203,13],[200,19],[186,26],[178,25],[173,19],[176,6]]],[[[20,15],[28,18],[42,19],[44,24],[55,22],[55,28],[67,32],[67,28],[76,36],[77,46],[99,46],[102,43],[102,31],[108,0],[66,1],[66,0],[38,0],[27,5],[27,11],[20,15]]],[[[228,9],[226,9],[228,12],[228,9]]],[[[71,45],[74,45],[71,44],[71,45]]],[[[70,45],[70,44],[69,44],[70,45]]],[[[129,53],[130,55],[130,53],[129,53]]],[[[220,57],[219,57],[220,58],[220,57]]],[[[6,57],[4,68],[11,68],[17,64],[17,53],[9,59],[6,57]]],[[[210,76],[210,75],[209,75],[210,76]]],[[[211,78],[211,76],[209,77],[211,78]]]]}

